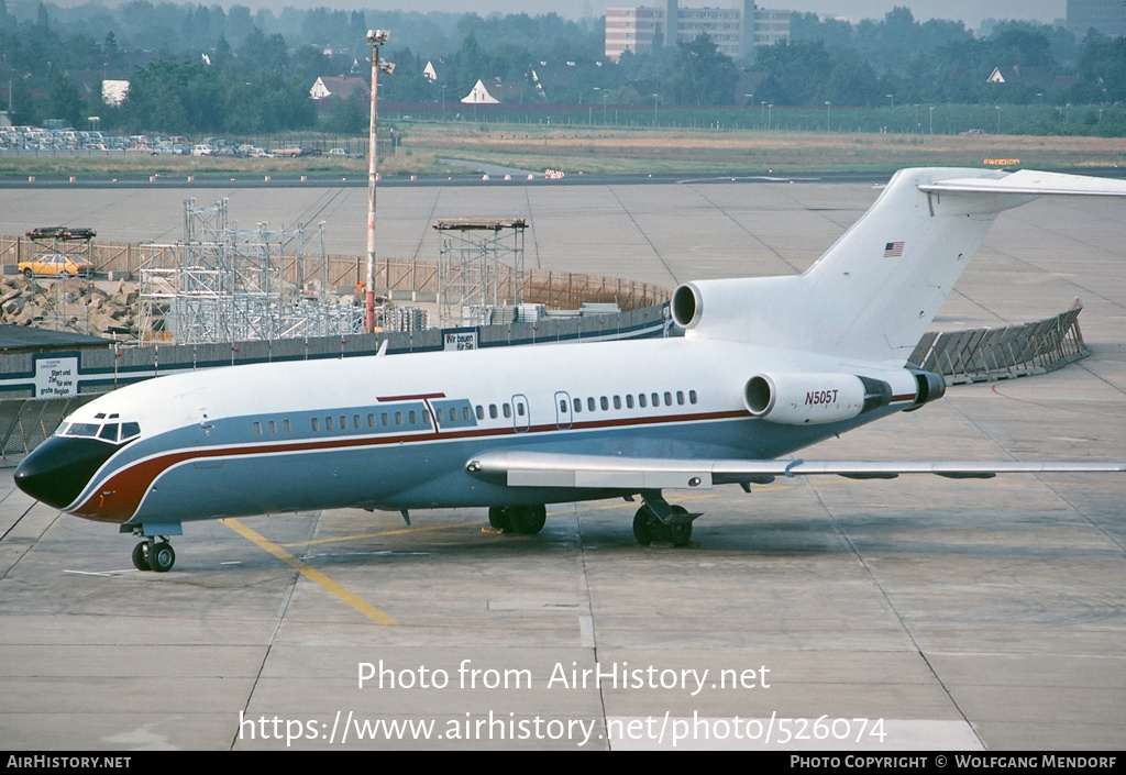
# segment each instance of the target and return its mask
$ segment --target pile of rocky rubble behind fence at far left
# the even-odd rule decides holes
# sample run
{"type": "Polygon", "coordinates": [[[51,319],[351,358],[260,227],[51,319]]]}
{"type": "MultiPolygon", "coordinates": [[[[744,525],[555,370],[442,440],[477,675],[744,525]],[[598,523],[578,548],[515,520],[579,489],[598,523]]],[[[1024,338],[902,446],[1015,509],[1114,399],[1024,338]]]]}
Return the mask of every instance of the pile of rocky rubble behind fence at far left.
{"type": "Polygon", "coordinates": [[[82,277],[0,277],[0,323],[89,333],[132,335],[137,324],[137,284],[82,277]]]}

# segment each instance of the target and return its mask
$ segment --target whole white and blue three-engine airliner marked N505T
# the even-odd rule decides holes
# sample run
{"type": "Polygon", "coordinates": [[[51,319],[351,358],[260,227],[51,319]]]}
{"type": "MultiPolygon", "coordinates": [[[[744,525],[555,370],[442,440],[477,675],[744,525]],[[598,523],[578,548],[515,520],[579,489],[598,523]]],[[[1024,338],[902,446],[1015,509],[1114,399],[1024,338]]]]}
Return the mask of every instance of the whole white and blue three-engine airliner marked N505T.
{"type": "Polygon", "coordinates": [[[537,533],[545,504],[643,502],[643,544],[682,545],[667,490],[775,476],[1126,471],[1124,463],[814,462],[802,447],[942,395],[906,358],[998,213],[1126,182],[909,169],[799,276],[688,283],[682,338],[232,366],[150,380],[68,417],[16,471],[27,493],[142,536],[197,519],[360,507],[489,507],[537,533]]]}

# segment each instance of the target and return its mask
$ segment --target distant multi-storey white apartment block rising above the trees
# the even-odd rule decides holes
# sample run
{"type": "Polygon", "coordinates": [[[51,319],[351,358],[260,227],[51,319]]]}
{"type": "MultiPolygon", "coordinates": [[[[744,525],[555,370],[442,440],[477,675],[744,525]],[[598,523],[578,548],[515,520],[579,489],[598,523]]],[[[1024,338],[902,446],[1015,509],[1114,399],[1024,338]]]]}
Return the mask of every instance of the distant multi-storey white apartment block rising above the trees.
{"type": "Polygon", "coordinates": [[[750,0],[735,0],[729,8],[680,8],[677,0],[655,8],[607,8],[606,56],[617,62],[626,51],[640,54],[653,51],[654,43],[673,46],[704,33],[720,52],[738,60],[754,46],[788,41],[790,12],[757,8],[750,0]]]}

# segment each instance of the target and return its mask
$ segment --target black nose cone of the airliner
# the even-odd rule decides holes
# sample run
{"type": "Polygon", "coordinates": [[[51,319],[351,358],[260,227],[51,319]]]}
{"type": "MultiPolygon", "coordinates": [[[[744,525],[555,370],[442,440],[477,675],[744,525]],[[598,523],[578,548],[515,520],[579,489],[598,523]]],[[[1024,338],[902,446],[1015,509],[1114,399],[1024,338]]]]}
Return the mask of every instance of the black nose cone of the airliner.
{"type": "Polygon", "coordinates": [[[16,469],[16,487],[54,508],[74,502],[115,447],[92,438],[52,436],[16,469]]]}

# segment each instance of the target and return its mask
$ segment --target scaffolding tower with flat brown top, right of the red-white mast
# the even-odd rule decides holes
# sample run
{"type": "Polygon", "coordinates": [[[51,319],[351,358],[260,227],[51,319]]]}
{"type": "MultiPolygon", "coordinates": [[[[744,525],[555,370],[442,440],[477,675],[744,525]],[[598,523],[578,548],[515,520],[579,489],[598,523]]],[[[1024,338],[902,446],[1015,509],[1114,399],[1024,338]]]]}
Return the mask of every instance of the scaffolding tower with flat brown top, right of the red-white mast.
{"type": "Polygon", "coordinates": [[[441,326],[482,326],[491,310],[524,301],[524,219],[449,219],[441,232],[441,326]]]}

